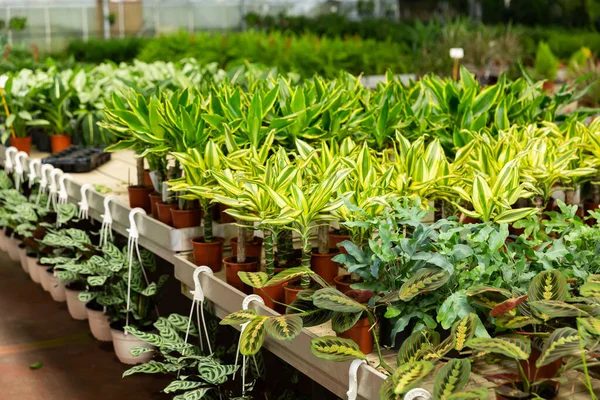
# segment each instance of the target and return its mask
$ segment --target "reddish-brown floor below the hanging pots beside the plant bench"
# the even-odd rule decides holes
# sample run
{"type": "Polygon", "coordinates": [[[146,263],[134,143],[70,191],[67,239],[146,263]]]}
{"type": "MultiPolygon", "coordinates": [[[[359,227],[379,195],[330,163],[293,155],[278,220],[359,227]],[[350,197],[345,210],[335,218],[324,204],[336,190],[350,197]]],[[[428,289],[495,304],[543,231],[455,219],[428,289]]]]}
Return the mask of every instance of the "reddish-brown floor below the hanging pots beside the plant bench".
{"type": "Polygon", "coordinates": [[[0,252],[0,400],[158,400],[169,379],[121,379],[112,343],[100,343],[87,321],[73,320],[41,286],[0,252]],[[30,365],[41,362],[39,369],[30,365]]]}

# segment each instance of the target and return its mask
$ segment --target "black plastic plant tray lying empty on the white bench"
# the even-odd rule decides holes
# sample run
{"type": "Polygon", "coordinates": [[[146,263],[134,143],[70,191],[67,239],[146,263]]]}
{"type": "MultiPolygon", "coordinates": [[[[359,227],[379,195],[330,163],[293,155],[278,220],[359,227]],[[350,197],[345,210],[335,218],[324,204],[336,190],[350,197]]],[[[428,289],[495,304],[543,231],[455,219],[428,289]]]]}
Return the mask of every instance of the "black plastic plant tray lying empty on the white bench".
{"type": "Polygon", "coordinates": [[[68,149],[42,159],[43,164],[51,164],[64,172],[90,172],[110,161],[110,153],[102,147],[71,146],[68,149]]]}

